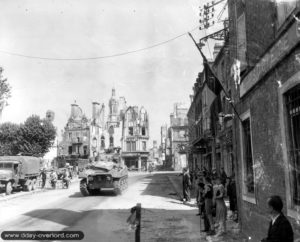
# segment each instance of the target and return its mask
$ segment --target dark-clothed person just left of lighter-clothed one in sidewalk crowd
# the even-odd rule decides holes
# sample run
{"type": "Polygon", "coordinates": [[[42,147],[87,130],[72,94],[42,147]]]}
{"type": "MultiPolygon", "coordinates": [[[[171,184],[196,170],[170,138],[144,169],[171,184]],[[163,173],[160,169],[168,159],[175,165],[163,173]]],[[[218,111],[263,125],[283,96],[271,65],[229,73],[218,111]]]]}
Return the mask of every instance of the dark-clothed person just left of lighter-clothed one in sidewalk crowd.
{"type": "MultiPolygon", "coordinates": [[[[205,216],[207,220],[209,221],[209,231],[208,235],[214,235],[215,234],[215,227],[213,222],[213,186],[211,184],[210,177],[204,178],[204,202],[205,202],[205,216]]],[[[206,232],[206,231],[203,231],[206,232]]]]}

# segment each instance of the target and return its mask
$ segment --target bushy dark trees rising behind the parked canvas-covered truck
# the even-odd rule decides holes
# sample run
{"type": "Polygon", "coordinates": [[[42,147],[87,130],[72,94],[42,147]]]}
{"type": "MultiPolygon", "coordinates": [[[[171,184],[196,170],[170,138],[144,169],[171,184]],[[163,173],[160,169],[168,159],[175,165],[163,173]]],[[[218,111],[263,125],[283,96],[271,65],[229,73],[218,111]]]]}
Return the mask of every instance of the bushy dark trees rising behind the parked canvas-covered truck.
{"type": "Polygon", "coordinates": [[[56,129],[51,122],[33,115],[24,124],[0,126],[0,155],[43,156],[53,145],[56,129]]]}

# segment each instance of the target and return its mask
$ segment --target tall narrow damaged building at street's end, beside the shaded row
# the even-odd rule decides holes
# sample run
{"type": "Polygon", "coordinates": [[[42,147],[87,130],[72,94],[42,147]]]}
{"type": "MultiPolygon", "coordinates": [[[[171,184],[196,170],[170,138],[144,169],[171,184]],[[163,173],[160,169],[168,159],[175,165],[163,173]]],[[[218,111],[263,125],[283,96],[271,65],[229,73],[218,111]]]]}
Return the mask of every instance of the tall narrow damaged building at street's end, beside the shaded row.
{"type": "Polygon", "coordinates": [[[174,104],[170,115],[170,127],[167,138],[167,159],[171,167],[181,171],[187,166],[186,146],[188,144],[188,108],[182,103],[174,104]]]}

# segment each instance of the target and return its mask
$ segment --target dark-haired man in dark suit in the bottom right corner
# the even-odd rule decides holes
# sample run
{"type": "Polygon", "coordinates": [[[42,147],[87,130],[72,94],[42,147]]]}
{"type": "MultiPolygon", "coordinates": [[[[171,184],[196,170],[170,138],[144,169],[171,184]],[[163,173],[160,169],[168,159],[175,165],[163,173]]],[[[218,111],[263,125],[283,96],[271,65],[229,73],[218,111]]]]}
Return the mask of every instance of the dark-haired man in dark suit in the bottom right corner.
{"type": "Polygon", "coordinates": [[[268,237],[262,242],[293,242],[294,233],[290,222],[282,214],[283,203],[279,196],[271,196],[268,199],[268,209],[271,222],[268,237]]]}

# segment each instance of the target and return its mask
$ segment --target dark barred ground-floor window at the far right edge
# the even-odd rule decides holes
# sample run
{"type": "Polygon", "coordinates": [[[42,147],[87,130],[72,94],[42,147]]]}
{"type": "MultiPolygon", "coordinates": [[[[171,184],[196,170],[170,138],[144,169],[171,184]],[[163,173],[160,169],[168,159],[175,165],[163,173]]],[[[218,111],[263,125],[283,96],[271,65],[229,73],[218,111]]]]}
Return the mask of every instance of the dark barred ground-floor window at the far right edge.
{"type": "Polygon", "coordinates": [[[293,205],[300,205],[300,85],[285,95],[288,118],[288,157],[293,205]]]}

